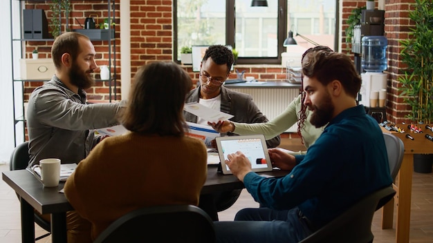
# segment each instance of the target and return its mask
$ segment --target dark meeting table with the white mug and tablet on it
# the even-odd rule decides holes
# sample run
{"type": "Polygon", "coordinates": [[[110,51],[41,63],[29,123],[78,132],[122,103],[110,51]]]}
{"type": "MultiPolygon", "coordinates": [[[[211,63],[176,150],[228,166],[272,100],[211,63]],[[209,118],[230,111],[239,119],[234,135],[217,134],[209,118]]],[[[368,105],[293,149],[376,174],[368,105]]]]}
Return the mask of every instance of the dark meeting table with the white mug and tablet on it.
{"type": "MultiPolygon", "coordinates": [[[[260,173],[267,177],[281,177],[287,171],[271,171],[260,173]]],[[[63,193],[59,193],[64,186],[60,183],[56,188],[44,188],[42,184],[27,170],[3,172],[5,181],[21,197],[21,240],[35,242],[34,210],[39,213],[51,214],[51,239],[53,243],[67,242],[66,239],[66,211],[73,210],[63,193]]],[[[208,167],[208,179],[201,191],[202,194],[218,191],[230,191],[243,188],[234,175],[216,173],[215,167],[208,167]]]]}

